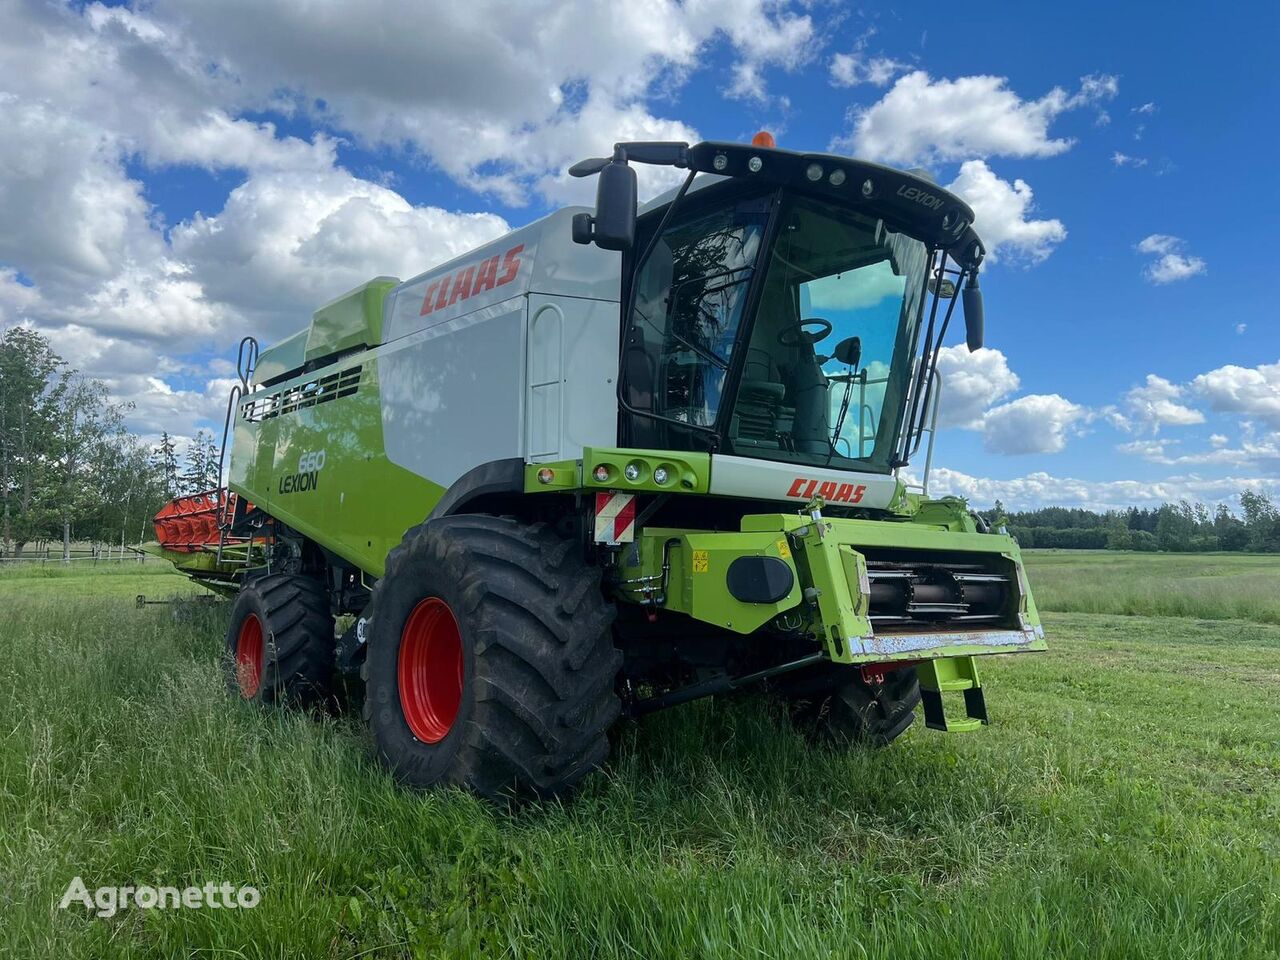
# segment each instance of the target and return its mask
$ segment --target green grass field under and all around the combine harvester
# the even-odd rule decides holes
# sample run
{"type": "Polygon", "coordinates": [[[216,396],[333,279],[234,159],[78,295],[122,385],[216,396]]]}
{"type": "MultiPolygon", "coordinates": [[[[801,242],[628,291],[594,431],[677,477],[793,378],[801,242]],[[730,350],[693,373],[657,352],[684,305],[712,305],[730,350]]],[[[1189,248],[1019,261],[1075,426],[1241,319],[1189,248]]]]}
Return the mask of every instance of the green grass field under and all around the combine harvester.
{"type": "Polygon", "coordinates": [[[691,704],[516,813],[232,701],[224,607],[133,607],[180,577],[8,572],[0,955],[1276,956],[1280,562],[1030,567],[1051,649],[984,662],[978,733],[831,753],[760,699],[691,704]],[[262,899],[99,919],[58,909],[76,876],[262,899]]]}

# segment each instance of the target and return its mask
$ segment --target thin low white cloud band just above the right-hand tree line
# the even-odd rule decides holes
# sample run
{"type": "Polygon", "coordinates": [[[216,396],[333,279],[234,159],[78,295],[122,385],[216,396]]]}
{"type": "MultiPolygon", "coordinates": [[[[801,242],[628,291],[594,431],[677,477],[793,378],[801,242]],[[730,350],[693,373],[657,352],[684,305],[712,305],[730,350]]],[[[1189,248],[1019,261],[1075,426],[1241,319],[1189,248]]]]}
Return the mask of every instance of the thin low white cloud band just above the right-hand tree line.
{"type": "Polygon", "coordinates": [[[934,467],[929,493],[965,497],[978,508],[1000,499],[1009,509],[1038,507],[1083,507],[1085,509],[1117,509],[1123,507],[1158,507],[1180,499],[1203,500],[1210,504],[1234,502],[1240,490],[1253,489],[1268,495],[1280,494],[1280,481],[1260,476],[1204,477],[1197,474],[1170,476],[1164,480],[1082,480],[1055,476],[1043,471],[1014,479],[975,477],[957,470],[934,467]]]}

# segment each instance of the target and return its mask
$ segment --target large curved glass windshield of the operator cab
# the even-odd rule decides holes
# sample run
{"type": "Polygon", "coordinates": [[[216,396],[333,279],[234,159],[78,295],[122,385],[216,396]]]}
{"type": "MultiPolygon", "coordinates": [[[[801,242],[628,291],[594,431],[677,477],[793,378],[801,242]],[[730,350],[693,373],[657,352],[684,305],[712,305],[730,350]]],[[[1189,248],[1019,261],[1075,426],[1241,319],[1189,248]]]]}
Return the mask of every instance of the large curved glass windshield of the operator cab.
{"type": "Polygon", "coordinates": [[[927,261],[922,242],[805,197],[675,218],[636,276],[627,442],[888,472],[927,261]]]}

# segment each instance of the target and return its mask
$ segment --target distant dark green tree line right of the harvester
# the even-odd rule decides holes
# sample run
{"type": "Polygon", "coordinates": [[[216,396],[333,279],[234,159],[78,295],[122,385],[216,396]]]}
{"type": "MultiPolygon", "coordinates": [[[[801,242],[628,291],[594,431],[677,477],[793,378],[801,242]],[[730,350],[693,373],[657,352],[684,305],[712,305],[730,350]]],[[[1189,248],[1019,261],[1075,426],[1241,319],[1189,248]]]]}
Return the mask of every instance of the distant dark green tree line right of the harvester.
{"type": "Polygon", "coordinates": [[[1254,490],[1240,493],[1239,516],[1225,503],[1211,509],[1189,500],[1105,512],[1042,507],[1014,513],[996,500],[979,513],[993,527],[1006,527],[1021,547],[1280,553],[1280,509],[1254,490]]]}

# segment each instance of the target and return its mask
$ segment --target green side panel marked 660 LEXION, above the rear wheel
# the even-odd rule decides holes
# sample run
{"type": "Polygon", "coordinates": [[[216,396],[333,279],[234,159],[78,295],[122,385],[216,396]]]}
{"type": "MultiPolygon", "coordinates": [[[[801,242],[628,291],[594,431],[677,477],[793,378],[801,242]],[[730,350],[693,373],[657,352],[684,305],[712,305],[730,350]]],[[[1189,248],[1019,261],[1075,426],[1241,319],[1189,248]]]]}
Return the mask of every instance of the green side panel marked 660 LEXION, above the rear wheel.
{"type": "Polygon", "coordinates": [[[374,358],[344,358],[246,402],[297,396],[289,392],[333,374],[355,378],[357,367],[358,388],[349,396],[256,421],[238,417],[229,485],[366,573],[381,576],[387,554],[426,518],[444,488],[387,458],[374,358]]]}

